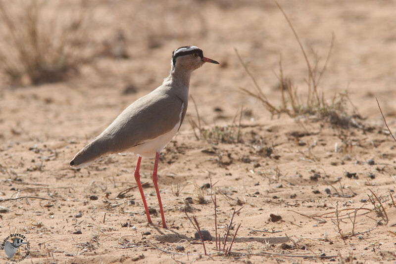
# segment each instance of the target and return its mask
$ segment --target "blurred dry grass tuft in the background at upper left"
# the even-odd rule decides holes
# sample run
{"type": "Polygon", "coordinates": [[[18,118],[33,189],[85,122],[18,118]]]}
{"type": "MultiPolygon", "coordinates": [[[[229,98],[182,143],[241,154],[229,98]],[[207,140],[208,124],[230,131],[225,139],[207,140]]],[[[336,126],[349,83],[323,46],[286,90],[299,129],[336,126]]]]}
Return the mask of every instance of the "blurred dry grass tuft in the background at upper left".
{"type": "Polygon", "coordinates": [[[87,42],[83,1],[58,12],[62,1],[0,0],[0,71],[11,85],[65,80],[78,72],[87,42]]]}

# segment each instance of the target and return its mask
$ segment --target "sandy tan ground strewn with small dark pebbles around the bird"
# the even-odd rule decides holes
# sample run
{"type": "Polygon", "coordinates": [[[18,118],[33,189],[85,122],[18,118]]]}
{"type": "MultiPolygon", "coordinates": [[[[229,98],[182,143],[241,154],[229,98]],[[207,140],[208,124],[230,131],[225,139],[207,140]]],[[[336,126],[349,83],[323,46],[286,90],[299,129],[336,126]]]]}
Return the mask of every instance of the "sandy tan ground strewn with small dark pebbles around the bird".
{"type": "MultiPolygon", "coordinates": [[[[396,131],[396,1],[279,2],[312,61],[315,51],[323,65],[334,33],[320,90],[327,99],[347,90],[364,118],[356,118],[359,127],[271,118],[240,91],[252,89],[252,81],[234,47],[274,105],[281,102],[274,75],[280,56],[285,75],[306,95],[305,60],[272,1],[88,1],[89,37],[101,53],[81,65],[78,76],[0,88],[1,240],[14,232],[26,236],[31,257],[23,263],[395,263],[396,143],[375,97],[396,131]],[[120,33],[127,59],[102,52],[120,33]],[[160,156],[169,227],[163,229],[159,213],[147,223],[133,177],[136,156],[109,155],[80,170],[68,163],[127,105],[161,84],[171,52],[186,44],[221,62],[194,72],[190,93],[202,127],[222,130],[226,140],[197,139],[190,101],[180,132],[160,156]],[[127,86],[136,92],[125,94],[127,86]],[[205,188],[210,182],[216,184],[205,188]],[[207,203],[198,203],[202,195],[207,203]],[[228,256],[214,241],[214,196],[222,249],[233,210],[242,207],[233,218],[229,237],[241,227],[228,256]],[[213,236],[205,241],[208,256],[184,211],[213,236]]],[[[144,190],[155,212],[152,167],[143,159],[144,190]]],[[[16,257],[25,253],[22,246],[16,257]]],[[[0,257],[7,261],[4,252],[0,257]]]]}

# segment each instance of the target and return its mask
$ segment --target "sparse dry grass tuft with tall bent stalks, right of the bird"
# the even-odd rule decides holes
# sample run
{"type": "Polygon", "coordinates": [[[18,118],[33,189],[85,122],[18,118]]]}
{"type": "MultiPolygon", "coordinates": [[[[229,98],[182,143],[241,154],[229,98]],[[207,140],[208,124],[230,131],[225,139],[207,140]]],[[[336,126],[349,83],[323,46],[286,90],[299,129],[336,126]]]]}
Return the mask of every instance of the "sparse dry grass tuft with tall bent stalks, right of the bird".
{"type": "MultiPolygon", "coordinates": [[[[254,90],[251,91],[247,88],[240,88],[246,94],[255,97],[260,100],[265,108],[272,115],[280,115],[282,113],[286,113],[290,117],[298,117],[298,116],[310,116],[314,117],[317,120],[324,120],[338,127],[347,128],[349,126],[357,127],[359,126],[355,121],[355,117],[359,117],[358,115],[348,115],[347,114],[347,102],[349,100],[347,91],[344,93],[337,93],[333,96],[332,99],[325,99],[324,92],[319,91],[320,80],[323,77],[323,74],[326,71],[327,64],[329,62],[331,52],[334,46],[334,34],[332,35],[332,39],[330,42],[329,51],[327,53],[326,60],[322,67],[319,67],[320,58],[317,53],[314,53],[314,66],[312,66],[310,60],[308,59],[307,53],[305,52],[304,47],[302,46],[298,35],[289,20],[288,16],[282,9],[282,7],[277,3],[278,7],[284,14],[287,22],[289,23],[290,28],[292,29],[297,43],[301,49],[301,52],[304,56],[308,76],[305,78],[305,83],[307,84],[307,96],[306,98],[301,98],[298,94],[298,89],[296,85],[293,84],[290,78],[287,78],[283,74],[282,68],[282,59],[279,61],[279,74],[276,74],[279,80],[279,88],[281,89],[282,94],[282,104],[280,106],[274,106],[266,97],[254,76],[250,73],[247,63],[243,61],[241,56],[238,53],[238,50],[235,49],[235,52],[238,56],[238,59],[246,71],[247,75],[253,82],[254,90]]],[[[353,106],[353,105],[352,105],[353,106]]],[[[355,109],[354,109],[355,110],[355,109]]]]}

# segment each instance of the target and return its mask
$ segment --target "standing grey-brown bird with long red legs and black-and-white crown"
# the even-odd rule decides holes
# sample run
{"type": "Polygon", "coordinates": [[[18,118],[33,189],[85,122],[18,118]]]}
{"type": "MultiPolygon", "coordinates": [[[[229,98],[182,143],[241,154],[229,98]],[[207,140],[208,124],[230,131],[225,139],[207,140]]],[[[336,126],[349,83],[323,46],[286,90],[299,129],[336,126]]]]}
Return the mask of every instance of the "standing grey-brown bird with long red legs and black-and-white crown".
{"type": "Polygon", "coordinates": [[[146,217],[152,224],[140,181],[142,157],[155,158],[152,182],[157,194],[162,227],[167,228],[158,190],[158,157],[161,150],[179,131],[186,115],[191,73],[205,62],[219,62],[203,56],[197,46],[182,46],[172,53],[169,76],[158,88],[130,104],[103,132],[71,160],[81,168],[109,153],[131,152],[138,155],[134,176],[142,196],[146,217]]]}

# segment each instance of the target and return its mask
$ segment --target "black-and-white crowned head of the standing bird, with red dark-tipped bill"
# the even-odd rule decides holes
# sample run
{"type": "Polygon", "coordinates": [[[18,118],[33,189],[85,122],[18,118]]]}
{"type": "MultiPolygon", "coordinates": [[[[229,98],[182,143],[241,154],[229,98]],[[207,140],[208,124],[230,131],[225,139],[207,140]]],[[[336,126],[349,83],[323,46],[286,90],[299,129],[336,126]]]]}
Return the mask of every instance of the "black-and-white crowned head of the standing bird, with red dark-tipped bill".
{"type": "Polygon", "coordinates": [[[172,54],[172,69],[194,71],[205,62],[219,64],[217,61],[206,58],[196,46],[183,46],[177,48],[172,54]]]}

